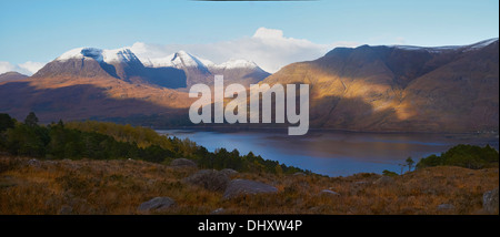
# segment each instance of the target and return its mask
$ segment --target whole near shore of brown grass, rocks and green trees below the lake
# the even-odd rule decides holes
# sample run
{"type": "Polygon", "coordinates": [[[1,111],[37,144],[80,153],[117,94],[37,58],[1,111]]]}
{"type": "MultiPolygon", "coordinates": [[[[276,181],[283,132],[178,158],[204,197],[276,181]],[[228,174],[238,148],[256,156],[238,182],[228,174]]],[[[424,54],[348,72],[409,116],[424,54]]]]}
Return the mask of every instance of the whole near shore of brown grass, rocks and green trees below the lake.
{"type": "Polygon", "coordinates": [[[154,197],[176,202],[158,214],[498,214],[498,159],[489,146],[459,145],[422,158],[403,175],[326,177],[252,153],[208,152],[144,127],[44,126],[34,114],[23,123],[0,114],[0,215],[141,214],[139,206],[154,197]],[[197,164],[178,166],[172,162],[178,158],[197,164]],[[224,176],[227,182],[250,179],[277,192],[224,198],[229,187],[187,181],[200,169],[226,168],[238,171],[224,176]],[[496,212],[487,212],[483,197],[492,189],[496,212]]]}

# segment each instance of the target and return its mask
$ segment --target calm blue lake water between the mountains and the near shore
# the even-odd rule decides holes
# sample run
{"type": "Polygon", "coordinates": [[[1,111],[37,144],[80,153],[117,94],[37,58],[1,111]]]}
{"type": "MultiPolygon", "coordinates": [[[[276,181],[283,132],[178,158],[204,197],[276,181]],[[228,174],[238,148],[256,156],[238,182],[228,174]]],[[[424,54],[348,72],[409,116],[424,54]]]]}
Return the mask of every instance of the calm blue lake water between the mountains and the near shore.
{"type": "Polygon", "coordinates": [[[400,173],[408,156],[440,154],[457,144],[486,145],[499,148],[498,135],[460,134],[377,134],[309,131],[304,136],[289,136],[280,131],[214,132],[200,130],[157,130],[159,134],[189,137],[213,152],[224,147],[240,154],[253,152],[264,159],[279,161],[329,176],[354,173],[400,173]]]}

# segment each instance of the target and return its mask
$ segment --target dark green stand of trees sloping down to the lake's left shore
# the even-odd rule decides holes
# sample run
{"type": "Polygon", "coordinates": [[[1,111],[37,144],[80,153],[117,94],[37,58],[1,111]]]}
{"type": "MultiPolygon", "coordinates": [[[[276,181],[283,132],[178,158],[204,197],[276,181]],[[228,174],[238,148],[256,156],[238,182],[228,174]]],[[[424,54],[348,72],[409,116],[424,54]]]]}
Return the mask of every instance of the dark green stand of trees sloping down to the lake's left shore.
{"type": "Polygon", "coordinates": [[[117,159],[131,158],[169,164],[174,158],[190,158],[201,168],[232,168],[238,172],[293,174],[310,173],[253,153],[240,155],[234,150],[207,151],[189,140],[161,136],[144,127],[103,122],[62,121],[39,125],[34,113],[23,123],[0,114],[0,151],[17,156],[47,159],[117,159]]]}

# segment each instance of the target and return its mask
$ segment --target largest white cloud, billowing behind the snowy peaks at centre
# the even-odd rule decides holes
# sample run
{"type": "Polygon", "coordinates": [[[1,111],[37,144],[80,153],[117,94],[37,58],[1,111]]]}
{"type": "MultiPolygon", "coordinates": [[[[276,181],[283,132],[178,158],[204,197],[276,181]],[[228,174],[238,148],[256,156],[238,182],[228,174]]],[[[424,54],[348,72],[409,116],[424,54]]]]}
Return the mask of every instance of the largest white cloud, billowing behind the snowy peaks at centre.
{"type": "Polygon", "coordinates": [[[353,42],[318,44],[304,39],[287,38],[283,31],[259,28],[252,37],[207,44],[148,44],[137,42],[131,47],[139,59],[157,59],[184,50],[193,55],[222,63],[234,59],[256,62],[268,72],[300,61],[309,61],[324,55],[336,47],[356,47],[353,42]]]}

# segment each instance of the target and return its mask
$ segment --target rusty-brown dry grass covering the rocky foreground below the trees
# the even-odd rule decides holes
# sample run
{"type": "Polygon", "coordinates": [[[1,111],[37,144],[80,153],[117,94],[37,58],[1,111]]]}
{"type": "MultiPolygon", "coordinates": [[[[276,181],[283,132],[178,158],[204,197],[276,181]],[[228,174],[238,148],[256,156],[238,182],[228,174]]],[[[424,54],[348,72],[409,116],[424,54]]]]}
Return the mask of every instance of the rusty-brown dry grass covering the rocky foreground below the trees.
{"type": "Polygon", "coordinates": [[[162,214],[484,214],[482,195],[498,187],[498,168],[472,171],[433,167],[408,173],[387,185],[380,175],[349,177],[238,174],[276,186],[271,195],[229,200],[182,182],[196,168],[173,168],[140,161],[40,161],[0,157],[0,214],[138,214],[153,197],[169,196],[177,206],[162,214]],[[340,196],[319,195],[332,189],[340,196]],[[452,204],[454,210],[438,210],[452,204]]]}

